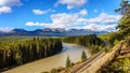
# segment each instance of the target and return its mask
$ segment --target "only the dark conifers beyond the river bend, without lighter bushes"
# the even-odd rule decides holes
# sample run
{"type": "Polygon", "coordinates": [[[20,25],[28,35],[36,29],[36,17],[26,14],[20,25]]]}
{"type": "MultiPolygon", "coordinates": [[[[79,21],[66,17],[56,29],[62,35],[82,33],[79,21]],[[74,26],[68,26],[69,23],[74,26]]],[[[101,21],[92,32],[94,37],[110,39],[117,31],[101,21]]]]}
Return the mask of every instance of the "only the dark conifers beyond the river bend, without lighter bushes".
{"type": "Polygon", "coordinates": [[[76,43],[90,47],[91,45],[101,45],[103,41],[96,36],[96,34],[66,36],[63,42],[76,43]]]}

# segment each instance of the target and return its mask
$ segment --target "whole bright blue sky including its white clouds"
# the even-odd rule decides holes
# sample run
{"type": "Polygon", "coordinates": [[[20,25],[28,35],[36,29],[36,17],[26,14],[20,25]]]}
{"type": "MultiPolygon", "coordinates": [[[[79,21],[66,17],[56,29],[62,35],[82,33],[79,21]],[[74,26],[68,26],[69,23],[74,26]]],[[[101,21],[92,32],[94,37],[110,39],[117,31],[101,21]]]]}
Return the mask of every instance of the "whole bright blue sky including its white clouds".
{"type": "Polygon", "coordinates": [[[0,0],[0,31],[77,28],[114,31],[121,0],[0,0]]]}

